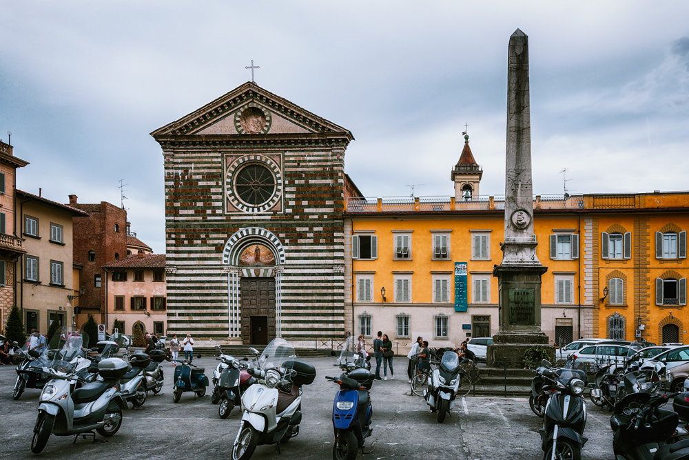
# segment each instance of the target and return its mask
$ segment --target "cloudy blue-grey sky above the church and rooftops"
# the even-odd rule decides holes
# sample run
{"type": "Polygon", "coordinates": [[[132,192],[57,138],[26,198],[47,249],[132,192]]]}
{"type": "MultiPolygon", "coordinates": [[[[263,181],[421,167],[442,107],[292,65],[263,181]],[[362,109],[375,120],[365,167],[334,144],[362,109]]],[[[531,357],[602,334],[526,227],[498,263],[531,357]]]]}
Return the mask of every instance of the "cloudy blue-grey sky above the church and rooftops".
{"type": "Polygon", "coordinates": [[[449,196],[464,124],[504,193],[510,35],[529,37],[537,194],[687,190],[687,1],[1,1],[0,139],[17,186],[125,206],[165,251],[149,133],[251,78],[353,132],[370,197],[449,196]]]}

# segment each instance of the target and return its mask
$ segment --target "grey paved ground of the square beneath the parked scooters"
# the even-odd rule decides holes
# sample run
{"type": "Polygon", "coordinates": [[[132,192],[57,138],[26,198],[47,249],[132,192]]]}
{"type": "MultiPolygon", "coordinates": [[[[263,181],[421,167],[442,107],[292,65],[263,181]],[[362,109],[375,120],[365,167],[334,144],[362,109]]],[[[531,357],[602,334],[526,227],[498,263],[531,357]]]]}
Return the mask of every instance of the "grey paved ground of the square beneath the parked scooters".
{"type": "MultiPolygon", "coordinates": [[[[302,399],[303,419],[298,437],[281,446],[259,446],[254,459],[331,459],[333,397],[337,386],[325,380],[338,375],[334,358],[305,359],[318,372],[313,385],[306,386],[302,399]]],[[[211,357],[195,360],[212,375],[217,361],[211,357]]],[[[407,359],[394,361],[395,380],[376,381],[371,390],[373,435],[358,458],[378,459],[542,459],[538,428],[541,419],[528,408],[526,398],[467,397],[458,399],[451,417],[435,421],[423,399],[411,395],[407,383],[407,359]]],[[[36,421],[39,390],[25,390],[19,401],[12,400],[16,372],[14,366],[0,366],[0,407],[2,442],[0,459],[227,459],[237,434],[239,408],[225,420],[218,406],[206,396],[194,400],[184,393],[172,402],[174,368],[165,366],[165,388],[149,394],[142,408],[126,410],[119,432],[107,443],[92,444],[73,437],[50,437],[45,450],[35,456],[30,451],[36,421]]],[[[210,388],[207,394],[210,393],[210,388]]],[[[131,407],[131,404],[130,404],[131,407]]],[[[610,414],[588,404],[585,435],[589,438],[582,459],[612,458],[610,414]]],[[[102,439],[99,437],[99,439],[102,439]]]]}

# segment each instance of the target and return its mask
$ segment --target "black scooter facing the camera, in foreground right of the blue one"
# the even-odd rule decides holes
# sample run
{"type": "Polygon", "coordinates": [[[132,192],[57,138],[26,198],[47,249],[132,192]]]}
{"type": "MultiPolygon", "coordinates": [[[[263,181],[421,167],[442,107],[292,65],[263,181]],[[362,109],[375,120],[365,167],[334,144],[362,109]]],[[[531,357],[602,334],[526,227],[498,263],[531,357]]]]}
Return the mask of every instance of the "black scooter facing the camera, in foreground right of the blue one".
{"type": "Polygon", "coordinates": [[[586,403],[584,403],[584,382],[586,365],[574,360],[567,361],[564,368],[553,369],[551,363],[541,361],[544,377],[555,381],[556,392],[548,399],[543,417],[541,448],[544,460],[580,459],[582,448],[588,441],[584,437],[586,428],[586,403]]]}

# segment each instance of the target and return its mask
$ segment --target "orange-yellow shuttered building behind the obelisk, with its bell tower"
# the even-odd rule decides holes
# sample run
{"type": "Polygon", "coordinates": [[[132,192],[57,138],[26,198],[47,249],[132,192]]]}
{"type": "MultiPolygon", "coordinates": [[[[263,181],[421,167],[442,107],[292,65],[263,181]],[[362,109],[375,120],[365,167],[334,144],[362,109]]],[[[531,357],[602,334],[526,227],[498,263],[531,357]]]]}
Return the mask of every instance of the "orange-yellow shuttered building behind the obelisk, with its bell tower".
{"type": "MultiPolygon", "coordinates": [[[[504,197],[477,194],[468,136],[448,199],[345,199],[347,330],[458,346],[498,332],[504,197]]],[[[689,193],[536,196],[542,330],[579,337],[683,341],[689,193]],[[606,290],[607,289],[607,290],[606,290]],[[607,293],[607,294],[606,294],[607,293]]]]}

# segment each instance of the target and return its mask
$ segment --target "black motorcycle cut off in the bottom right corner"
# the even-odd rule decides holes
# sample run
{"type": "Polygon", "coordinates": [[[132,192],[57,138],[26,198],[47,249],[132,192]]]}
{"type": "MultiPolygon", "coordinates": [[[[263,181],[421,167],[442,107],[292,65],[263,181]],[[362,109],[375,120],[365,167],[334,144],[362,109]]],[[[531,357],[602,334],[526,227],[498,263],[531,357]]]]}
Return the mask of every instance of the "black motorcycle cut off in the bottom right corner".
{"type": "Polygon", "coordinates": [[[610,417],[616,460],[689,459],[688,440],[670,441],[679,421],[677,412],[660,408],[680,393],[657,393],[659,381],[654,370],[624,376],[625,396],[610,417]]]}

